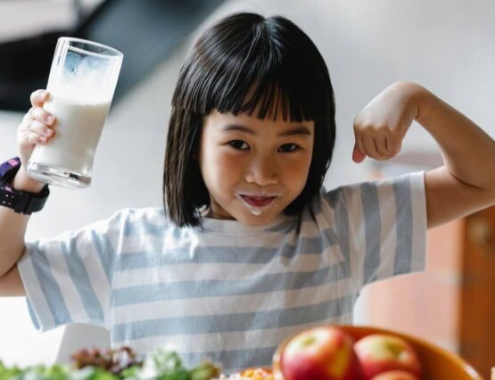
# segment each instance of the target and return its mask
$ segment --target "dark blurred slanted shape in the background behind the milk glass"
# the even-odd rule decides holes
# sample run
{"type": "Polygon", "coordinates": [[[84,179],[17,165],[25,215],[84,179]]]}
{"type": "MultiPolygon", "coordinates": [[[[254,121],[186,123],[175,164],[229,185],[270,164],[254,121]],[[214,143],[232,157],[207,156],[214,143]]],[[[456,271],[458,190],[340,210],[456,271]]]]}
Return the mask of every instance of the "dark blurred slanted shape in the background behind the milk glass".
{"type": "Polygon", "coordinates": [[[89,39],[120,50],[124,62],[114,102],[128,94],[223,0],[106,0],[74,29],[0,44],[0,110],[26,111],[46,87],[58,37],[89,39]]]}

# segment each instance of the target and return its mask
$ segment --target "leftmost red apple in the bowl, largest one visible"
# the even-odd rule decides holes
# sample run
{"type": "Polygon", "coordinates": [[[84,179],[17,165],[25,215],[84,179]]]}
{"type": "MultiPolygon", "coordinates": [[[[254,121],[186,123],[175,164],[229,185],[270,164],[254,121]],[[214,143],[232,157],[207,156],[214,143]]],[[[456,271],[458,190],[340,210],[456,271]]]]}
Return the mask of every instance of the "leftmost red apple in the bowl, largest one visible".
{"type": "Polygon", "coordinates": [[[360,380],[353,344],[351,335],[336,326],[310,328],[285,345],[280,371],[285,380],[360,380]]]}

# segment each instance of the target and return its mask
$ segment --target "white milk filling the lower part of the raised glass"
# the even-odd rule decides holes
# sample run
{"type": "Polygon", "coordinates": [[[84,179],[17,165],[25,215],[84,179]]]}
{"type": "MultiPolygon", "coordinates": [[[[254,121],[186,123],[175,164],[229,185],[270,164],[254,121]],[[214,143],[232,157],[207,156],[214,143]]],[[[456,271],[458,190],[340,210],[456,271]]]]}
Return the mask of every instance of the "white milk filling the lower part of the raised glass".
{"type": "Polygon", "coordinates": [[[91,178],[110,103],[111,99],[88,102],[51,94],[43,108],[57,118],[55,136],[46,145],[37,145],[29,161],[91,178]]]}

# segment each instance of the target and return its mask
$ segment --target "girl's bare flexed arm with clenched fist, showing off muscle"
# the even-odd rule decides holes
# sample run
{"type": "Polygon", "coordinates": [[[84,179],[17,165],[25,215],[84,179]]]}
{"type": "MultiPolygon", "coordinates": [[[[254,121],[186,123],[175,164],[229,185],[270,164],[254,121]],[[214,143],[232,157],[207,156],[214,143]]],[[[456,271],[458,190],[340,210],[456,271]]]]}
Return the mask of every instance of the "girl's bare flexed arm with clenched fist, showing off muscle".
{"type": "Polygon", "coordinates": [[[414,83],[387,87],[354,120],[353,160],[400,152],[413,120],[433,136],[444,165],[425,174],[428,227],[495,204],[495,141],[439,97],[414,83]]]}

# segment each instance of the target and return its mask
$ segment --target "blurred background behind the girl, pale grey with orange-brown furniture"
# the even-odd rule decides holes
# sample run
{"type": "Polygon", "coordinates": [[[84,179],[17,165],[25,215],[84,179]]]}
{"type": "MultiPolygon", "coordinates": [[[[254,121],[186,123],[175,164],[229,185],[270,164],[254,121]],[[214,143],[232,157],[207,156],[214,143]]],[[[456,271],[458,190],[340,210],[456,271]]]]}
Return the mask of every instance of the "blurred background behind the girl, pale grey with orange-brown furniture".
{"type": "MultiPolygon", "coordinates": [[[[124,54],[92,186],[53,186],[45,210],[31,218],[29,238],[82,227],[123,207],[161,206],[178,70],[194,37],[236,11],[285,15],[325,57],[338,126],[327,188],[441,164],[433,138],[416,124],[394,161],[351,161],[353,118],[396,80],[427,87],[495,136],[491,0],[0,0],[1,161],[16,154],[16,128],[29,94],[46,86],[58,37],[95,40],[124,54]]],[[[359,296],[355,322],[425,337],[488,376],[495,364],[494,231],[492,209],[431,230],[426,272],[370,285],[359,296]]],[[[6,363],[64,361],[78,348],[108,346],[108,333],[93,326],[38,333],[24,299],[0,299],[0,310],[6,363]]]]}

